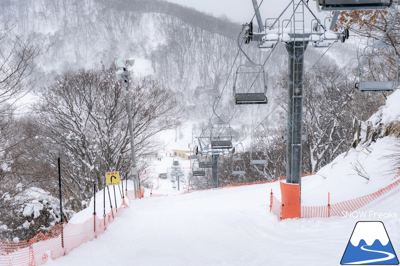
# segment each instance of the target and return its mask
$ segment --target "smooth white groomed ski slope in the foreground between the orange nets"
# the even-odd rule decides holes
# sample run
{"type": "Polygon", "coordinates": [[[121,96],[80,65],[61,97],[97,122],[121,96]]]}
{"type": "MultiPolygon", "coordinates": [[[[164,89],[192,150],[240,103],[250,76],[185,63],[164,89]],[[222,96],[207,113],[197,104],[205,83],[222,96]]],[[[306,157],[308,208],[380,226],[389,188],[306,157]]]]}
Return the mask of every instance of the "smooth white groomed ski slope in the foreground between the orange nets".
{"type": "MultiPolygon", "coordinates": [[[[271,188],[278,183],[135,200],[104,234],[46,265],[339,265],[360,218],[279,222],[271,188]]],[[[360,210],[400,214],[399,199],[394,189],[360,210]]],[[[400,250],[398,218],[378,220],[400,250]]]]}

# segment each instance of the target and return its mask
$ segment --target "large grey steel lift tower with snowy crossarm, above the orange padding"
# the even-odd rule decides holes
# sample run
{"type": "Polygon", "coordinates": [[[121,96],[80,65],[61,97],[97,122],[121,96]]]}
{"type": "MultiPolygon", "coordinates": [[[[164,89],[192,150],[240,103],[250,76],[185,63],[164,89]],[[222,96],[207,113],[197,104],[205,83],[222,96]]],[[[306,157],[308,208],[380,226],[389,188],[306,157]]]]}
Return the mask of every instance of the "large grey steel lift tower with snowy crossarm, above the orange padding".
{"type": "MultiPolygon", "coordinates": [[[[306,48],[310,43],[315,48],[329,48],[338,40],[343,43],[348,39],[347,28],[343,32],[334,32],[340,10],[388,9],[392,4],[392,0],[388,2],[382,0],[359,0],[356,3],[354,2],[354,0],[316,0],[318,12],[334,12],[331,18],[326,18],[322,23],[312,13],[304,0],[296,2],[292,0],[278,18],[272,19],[274,22],[271,26],[266,26],[266,23],[264,26],[257,0],[252,0],[258,23],[258,32],[253,32],[252,22],[244,24],[243,27],[247,27],[243,37],[246,38],[246,43],[254,41],[258,43],[259,48],[273,49],[278,42],[282,42],[288,51],[287,135],[284,136],[284,140],[287,141],[286,183],[301,185],[302,141],[305,141],[307,137],[302,133],[304,52],[306,48]],[[290,6],[292,6],[293,10],[292,18],[290,20],[282,20],[281,24],[280,18],[290,6]],[[314,19],[307,23],[310,28],[306,28],[306,23],[304,22],[304,9],[307,9],[314,16],[314,19]],[[329,20],[331,21],[329,27],[325,25],[327,20],[328,23],[329,20]],[[275,27],[276,25],[278,25],[277,28],[275,27]]],[[[241,48],[240,50],[242,51],[241,48]]],[[[246,58],[248,57],[246,56],[246,58]]]]}

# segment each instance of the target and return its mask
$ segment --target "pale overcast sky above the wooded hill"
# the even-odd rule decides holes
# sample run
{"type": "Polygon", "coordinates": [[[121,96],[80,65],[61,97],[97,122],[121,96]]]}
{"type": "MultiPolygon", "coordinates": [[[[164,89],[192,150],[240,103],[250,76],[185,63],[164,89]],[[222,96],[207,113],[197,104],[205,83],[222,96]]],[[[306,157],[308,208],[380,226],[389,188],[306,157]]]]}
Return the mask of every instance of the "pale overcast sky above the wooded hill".
{"type": "MultiPolygon", "coordinates": [[[[197,10],[204,11],[207,13],[212,13],[214,16],[220,16],[225,14],[233,21],[237,21],[240,23],[250,22],[251,18],[254,15],[254,8],[252,4],[252,0],[168,0],[173,3],[182,4],[185,6],[190,6],[196,8],[197,10]]],[[[257,0],[258,4],[261,3],[261,0],[257,0]]],[[[295,0],[297,3],[298,1],[295,0]]],[[[286,8],[286,6],[290,3],[290,0],[264,0],[260,5],[260,14],[263,23],[266,18],[277,18],[280,13],[286,8]]],[[[309,0],[308,5],[314,14],[321,19],[322,23],[323,19],[327,16],[325,13],[318,13],[316,10],[316,3],[314,0],[309,0]]],[[[313,18],[310,15],[310,12],[305,9],[306,16],[306,28],[310,28],[311,26],[307,26],[307,24],[311,25],[311,19],[313,18]]],[[[290,18],[293,14],[293,7],[290,6],[288,10],[286,10],[284,19],[290,18]]],[[[281,19],[282,21],[282,19],[281,19]]],[[[254,19],[256,23],[256,19],[254,19]]]]}

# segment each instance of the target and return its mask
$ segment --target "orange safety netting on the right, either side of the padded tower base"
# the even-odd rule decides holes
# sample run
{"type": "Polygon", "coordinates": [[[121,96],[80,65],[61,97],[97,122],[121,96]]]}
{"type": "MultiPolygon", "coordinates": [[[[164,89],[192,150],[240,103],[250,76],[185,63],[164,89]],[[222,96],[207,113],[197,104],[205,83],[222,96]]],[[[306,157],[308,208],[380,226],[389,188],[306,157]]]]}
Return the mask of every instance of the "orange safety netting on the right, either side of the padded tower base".
{"type": "MultiPolygon", "coordinates": [[[[400,170],[396,173],[393,179],[396,179],[400,175],[400,170]]],[[[400,185],[400,179],[394,181],[387,187],[380,189],[369,195],[358,197],[356,199],[345,200],[342,202],[337,202],[334,204],[329,204],[325,206],[301,206],[300,207],[300,217],[299,218],[316,218],[316,217],[330,217],[330,216],[344,216],[346,213],[353,212],[359,208],[370,203],[374,199],[378,199],[380,196],[388,193],[392,189],[400,185]]],[[[272,211],[281,220],[285,217],[282,213],[293,212],[289,206],[284,206],[276,197],[273,196],[271,192],[270,197],[270,211],[272,211]]]]}

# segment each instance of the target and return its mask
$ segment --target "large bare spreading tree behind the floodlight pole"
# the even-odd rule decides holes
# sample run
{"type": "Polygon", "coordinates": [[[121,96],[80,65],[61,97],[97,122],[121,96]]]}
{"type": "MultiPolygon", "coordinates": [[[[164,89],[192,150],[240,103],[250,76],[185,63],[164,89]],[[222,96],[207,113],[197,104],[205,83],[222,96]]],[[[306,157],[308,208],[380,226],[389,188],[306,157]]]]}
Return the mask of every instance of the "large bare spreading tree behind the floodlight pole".
{"type": "MultiPolygon", "coordinates": [[[[130,140],[125,89],[115,78],[116,66],[66,73],[38,93],[36,121],[48,138],[46,161],[61,157],[72,209],[92,196],[92,184],[105,185],[104,173],[130,168],[130,140]]],[[[161,147],[160,133],[183,119],[172,92],[152,77],[131,81],[132,118],[138,172],[148,167],[147,155],[161,147]]],[[[142,185],[148,183],[141,180],[142,185]]]]}

